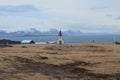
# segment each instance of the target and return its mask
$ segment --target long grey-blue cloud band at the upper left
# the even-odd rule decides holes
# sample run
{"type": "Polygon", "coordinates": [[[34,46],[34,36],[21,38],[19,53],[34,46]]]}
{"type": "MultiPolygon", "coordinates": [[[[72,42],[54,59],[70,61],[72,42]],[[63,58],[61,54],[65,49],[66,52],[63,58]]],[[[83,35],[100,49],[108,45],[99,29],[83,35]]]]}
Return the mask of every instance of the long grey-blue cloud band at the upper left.
{"type": "Polygon", "coordinates": [[[38,9],[33,5],[0,6],[0,12],[30,12],[30,11],[37,11],[37,10],[38,9]]]}

